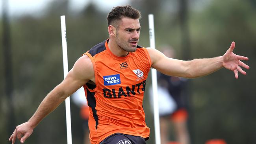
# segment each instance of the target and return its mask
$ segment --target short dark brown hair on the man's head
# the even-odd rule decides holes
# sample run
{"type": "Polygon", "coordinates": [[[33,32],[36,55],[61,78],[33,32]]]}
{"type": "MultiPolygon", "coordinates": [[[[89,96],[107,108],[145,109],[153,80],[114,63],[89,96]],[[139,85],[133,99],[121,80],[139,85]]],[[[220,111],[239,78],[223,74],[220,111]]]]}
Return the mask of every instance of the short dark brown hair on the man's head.
{"type": "Polygon", "coordinates": [[[141,12],[132,8],[130,5],[113,7],[113,9],[108,13],[108,26],[114,25],[114,22],[121,20],[123,17],[140,19],[141,12]]]}

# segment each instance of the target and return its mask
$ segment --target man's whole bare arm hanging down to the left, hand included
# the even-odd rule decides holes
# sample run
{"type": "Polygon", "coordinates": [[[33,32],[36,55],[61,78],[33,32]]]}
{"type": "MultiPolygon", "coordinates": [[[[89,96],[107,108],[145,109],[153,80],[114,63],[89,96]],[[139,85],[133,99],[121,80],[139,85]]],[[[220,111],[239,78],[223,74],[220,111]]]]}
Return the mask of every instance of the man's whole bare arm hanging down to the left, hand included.
{"type": "Polygon", "coordinates": [[[16,138],[18,138],[21,143],[24,143],[24,141],[32,134],[33,129],[39,122],[41,122],[41,120],[43,120],[43,118],[45,118],[45,116],[54,111],[61,102],[89,80],[94,81],[93,65],[89,57],[84,55],[76,61],[74,67],[67,74],[67,77],[47,94],[28,122],[16,127],[9,138],[9,141],[14,144],[16,138]]]}

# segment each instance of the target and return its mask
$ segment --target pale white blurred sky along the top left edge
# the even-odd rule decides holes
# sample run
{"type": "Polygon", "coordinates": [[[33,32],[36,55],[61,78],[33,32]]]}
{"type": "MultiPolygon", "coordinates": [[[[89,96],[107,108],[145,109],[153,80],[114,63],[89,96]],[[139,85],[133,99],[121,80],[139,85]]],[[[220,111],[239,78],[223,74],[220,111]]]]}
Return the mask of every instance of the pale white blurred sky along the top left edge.
{"type": "MultiPolygon", "coordinates": [[[[3,3],[8,2],[9,15],[36,14],[48,6],[52,0],[0,0],[0,14],[2,15],[3,3]]],[[[89,2],[95,2],[102,10],[110,10],[113,6],[124,5],[129,0],[69,0],[70,9],[80,10],[89,2]],[[104,6],[104,7],[102,7],[104,6]]],[[[40,14],[39,14],[40,15],[40,14]]]]}

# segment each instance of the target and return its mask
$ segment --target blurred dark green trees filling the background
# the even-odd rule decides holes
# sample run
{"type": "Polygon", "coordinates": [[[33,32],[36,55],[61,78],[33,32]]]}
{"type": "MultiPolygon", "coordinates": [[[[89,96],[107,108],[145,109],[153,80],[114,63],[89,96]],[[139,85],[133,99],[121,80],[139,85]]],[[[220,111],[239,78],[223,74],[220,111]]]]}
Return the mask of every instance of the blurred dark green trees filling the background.
{"type": "MultiPolygon", "coordinates": [[[[139,44],[149,46],[147,15],[155,17],[156,47],[169,44],[182,59],[182,31],[178,0],[131,1],[139,9],[141,38],[139,44]]],[[[192,79],[191,137],[193,144],[203,144],[210,138],[224,138],[227,143],[255,143],[256,114],[256,3],[254,0],[195,0],[188,3],[190,58],[223,55],[232,41],[235,53],[249,57],[251,69],[247,76],[235,79],[232,72],[219,70],[210,76],[192,79]]],[[[66,15],[69,69],[84,52],[108,38],[107,12],[93,3],[79,13],[69,10],[69,1],[54,0],[43,15],[21,15],[11,18],[15,124],[32,116],[39,103],[53,87],[63,80],[60,15],[66,15]]],[[[1,20],[2,23],[2,20],[1,20]]],[[[0,33],[2,33],[0,27],[0,33]]],[[[2,35],[0,35],[2,41],[2,35]]],[[[0,54],[3,55],[2,45],[0,54]]],[[[0,65],[3,65],[0,59],[0,65]]],[[[0,93],[4,95],[4,68],[0,67],[0,93]]],[[[150,78],[150,77],[149,77],[150,78]]],[[[148,79],[147,85],[150,84],[148,79]]],[[[145,93],[144,109],[151,128],[148,144],[154,144],[154,126],[145,93]]],[[[6,99],[0,97],[0,143],[8,143],[6,131],[6,99]]],[[[71,102],[72,135],[74,143],[82,143],[79,109],[71,102]]],[[[34,130],[26,143],[66,143],[65,106],[61,104],[34,130]]]]}

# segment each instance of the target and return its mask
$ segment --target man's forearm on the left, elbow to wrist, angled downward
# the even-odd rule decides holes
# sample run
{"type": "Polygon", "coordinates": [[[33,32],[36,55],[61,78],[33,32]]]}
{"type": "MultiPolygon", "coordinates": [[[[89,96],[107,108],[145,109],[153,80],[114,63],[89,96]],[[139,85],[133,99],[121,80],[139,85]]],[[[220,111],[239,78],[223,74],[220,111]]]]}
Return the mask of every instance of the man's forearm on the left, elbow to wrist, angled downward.
{"type": "Polygon", "coordinates": [[[58,88],[58,86],[53,89],[44,100],[40,103],[37,111],[33,114],[33,116],[28,120],[33,128],[35,128],[45,116],[54,111],[61,102],[65,100],[66,96],[64,96],[64,92],[58,88]]]}

